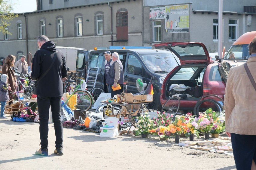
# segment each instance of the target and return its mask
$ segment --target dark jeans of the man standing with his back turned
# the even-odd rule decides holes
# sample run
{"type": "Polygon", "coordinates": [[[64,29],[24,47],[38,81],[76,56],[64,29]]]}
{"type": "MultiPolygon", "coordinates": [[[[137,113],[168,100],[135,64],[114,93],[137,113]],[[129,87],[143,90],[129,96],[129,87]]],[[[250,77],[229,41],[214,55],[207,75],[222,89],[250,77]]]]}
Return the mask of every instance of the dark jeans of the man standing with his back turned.
{"type": "Polygon", "coordinates": [[[48,122],[49,122],[49,109],[51,106],[53,125],[55,130],[55,147],[62,147],[63,142],[63,129],[60,118],[61,109],[61,96],[60,97],[42,97],[37,95],[37,106],[39,113],[39,132],[41,139],[41,148],[48,148],[48,122]]]}

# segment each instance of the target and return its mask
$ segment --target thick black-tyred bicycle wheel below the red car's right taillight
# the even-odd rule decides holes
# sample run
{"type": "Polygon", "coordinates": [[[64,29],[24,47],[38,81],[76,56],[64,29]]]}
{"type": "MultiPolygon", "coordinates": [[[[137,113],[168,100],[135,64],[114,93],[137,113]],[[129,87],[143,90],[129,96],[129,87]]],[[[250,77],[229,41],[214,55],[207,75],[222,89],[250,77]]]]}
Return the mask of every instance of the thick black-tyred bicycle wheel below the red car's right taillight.
{"type": "MultiPolygon", "coordinates": [[[[214,111],[218,111],[218,112],[221,112],[221,107],[219,107],[219,103],[215,100],[212,100],[212,99],[204,99],[204,100],[201,100],[201,101],[198,101],[196,106],[194,107],[194,115],[196,115],[197,117],[199,117],[199,110],[200,111],[206,111],[207,109],[209,109],[208,107],[201,107],[201,104],[203,104],[204,102],[210,102],[212,103],[212,110],[214,111]]],[[[209,104],[207,104],[209,106],[209,104]]]]}

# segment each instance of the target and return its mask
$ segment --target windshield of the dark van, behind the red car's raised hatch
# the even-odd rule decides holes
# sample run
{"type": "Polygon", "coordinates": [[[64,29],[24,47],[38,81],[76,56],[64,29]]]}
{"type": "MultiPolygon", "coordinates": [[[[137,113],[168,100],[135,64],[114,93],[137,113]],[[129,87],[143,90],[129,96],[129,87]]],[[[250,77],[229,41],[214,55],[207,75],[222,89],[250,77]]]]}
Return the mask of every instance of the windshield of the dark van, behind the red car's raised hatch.
{"type": "Polygon", "coordinates": [[[143,54],[141,58],[151,72],[170,72],[180,65],[180,60],[174,54],[143,54]]]}

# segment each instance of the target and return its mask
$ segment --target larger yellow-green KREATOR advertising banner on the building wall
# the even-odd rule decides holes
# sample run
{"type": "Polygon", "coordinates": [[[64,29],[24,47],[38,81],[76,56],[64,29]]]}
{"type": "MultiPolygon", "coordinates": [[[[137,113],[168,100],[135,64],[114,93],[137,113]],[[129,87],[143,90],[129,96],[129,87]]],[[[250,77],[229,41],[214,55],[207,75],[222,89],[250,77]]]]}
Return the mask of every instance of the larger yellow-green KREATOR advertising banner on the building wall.
{"type": "Polygon", "coordinates": [[[188,4],[166,6],[165,15],[166,33],[188,32],[188,4]]]}

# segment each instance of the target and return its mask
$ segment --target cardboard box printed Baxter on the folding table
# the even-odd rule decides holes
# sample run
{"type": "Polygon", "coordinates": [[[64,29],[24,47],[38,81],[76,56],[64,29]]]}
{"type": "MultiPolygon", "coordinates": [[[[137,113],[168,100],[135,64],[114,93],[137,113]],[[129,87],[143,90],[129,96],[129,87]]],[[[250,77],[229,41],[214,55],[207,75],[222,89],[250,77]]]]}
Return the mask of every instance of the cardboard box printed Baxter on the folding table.
{"type": "Polygon", "coordinates": [[[132,95],[132,93],[125,93],[125,102],[130,104],[147,103],[153,101],[153,95],[132,95]]]}

